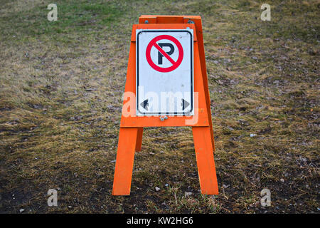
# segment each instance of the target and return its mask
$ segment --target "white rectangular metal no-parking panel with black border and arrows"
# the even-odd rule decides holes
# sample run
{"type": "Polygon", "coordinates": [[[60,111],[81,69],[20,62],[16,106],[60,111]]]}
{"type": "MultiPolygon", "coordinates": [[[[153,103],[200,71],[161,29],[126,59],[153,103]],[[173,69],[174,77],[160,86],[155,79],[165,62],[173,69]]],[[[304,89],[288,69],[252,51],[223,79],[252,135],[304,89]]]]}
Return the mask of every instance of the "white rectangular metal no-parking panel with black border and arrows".
{"type": "Polygon", "coordinates": [[[136,32],[137,115],[193,115],[193,30],[136,32]]]}

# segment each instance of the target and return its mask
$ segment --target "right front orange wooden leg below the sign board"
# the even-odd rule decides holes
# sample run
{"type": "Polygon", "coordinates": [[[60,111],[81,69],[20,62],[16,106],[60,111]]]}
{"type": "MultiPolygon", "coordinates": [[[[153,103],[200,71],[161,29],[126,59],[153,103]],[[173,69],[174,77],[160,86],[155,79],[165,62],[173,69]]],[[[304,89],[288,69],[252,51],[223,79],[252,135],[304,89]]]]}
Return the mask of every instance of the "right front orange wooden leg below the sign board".
{"type": "Polygon", "coordinates": [[[215,174],[215,161],[213,158],[213,143],[211,140],[210,126],[193,127],[193,142],[196,150],[198,175],[201,193],[218,195],[218,182],[215,174]]]}

